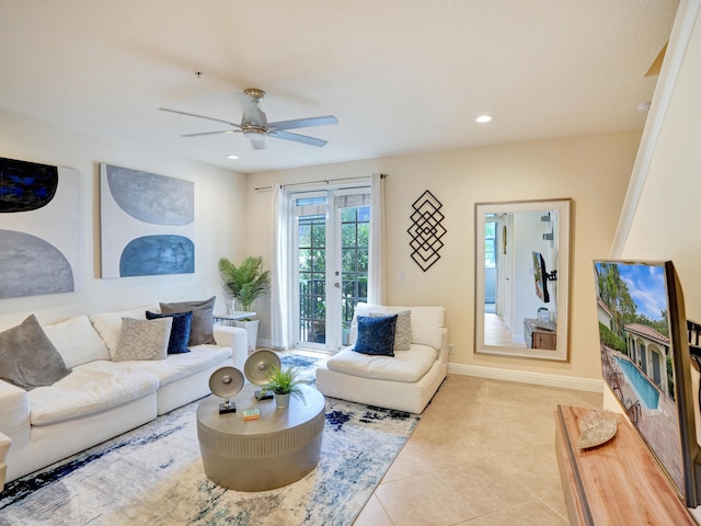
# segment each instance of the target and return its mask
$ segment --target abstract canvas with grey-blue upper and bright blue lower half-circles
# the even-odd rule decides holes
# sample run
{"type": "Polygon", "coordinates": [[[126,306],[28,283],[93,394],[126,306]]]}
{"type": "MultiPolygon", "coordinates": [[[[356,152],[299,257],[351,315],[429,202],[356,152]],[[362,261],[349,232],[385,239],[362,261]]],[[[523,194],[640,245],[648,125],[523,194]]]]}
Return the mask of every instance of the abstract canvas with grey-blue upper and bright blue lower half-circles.
{"type": "Polygon", "coordinates": [[[195,272],[195,184],[100,164],[102,277],[195,272]]]}

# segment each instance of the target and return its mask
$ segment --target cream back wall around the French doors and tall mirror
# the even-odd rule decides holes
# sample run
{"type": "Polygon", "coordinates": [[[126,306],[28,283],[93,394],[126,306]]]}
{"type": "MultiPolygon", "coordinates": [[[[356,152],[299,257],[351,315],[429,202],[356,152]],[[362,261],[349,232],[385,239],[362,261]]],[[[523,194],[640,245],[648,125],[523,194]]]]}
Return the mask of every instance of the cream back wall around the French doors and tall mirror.
{"type": "MultiPolygon", "coordinates": [[[[639,132],[542,140],[369,159],[249,176],[248,253],[269,267],[272,194],[255,187],[272,183],[389,174],[387,180],[388,295],[394,305],[443,305],[447,309],[453,364],[600,379],[596,295],[591,261],[609,252],[633,167],[639,132]],[[444,205],[447,235],[440,260],[423,272],[409,248],[412,203],[429,190],[444,205]],[[574,199],[571,275],[571,361],[475,355],[474,204],[481,202],[574,199]],[[405,281],[400,282],[399,275],[405,281]]],[[[261,338],[268,338],[268,317],[258,308],[261,338]]]]}

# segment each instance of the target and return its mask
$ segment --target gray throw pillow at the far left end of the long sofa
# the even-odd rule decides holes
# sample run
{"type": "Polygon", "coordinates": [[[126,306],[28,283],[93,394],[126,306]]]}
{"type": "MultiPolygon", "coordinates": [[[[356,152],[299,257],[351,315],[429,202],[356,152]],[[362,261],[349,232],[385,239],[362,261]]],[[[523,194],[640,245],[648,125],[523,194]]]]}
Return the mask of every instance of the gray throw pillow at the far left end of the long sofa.
{"type": "Polygon", "coordinates": [[[31,391],[70,373],[34,315],[0,333],[0,379],[31,391]]]}

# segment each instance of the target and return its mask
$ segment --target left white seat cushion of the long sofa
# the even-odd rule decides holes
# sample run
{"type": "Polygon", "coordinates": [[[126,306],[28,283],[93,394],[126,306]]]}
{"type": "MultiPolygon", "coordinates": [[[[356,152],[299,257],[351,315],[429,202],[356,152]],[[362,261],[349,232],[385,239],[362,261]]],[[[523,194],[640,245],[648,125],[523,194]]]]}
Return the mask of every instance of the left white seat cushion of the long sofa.
{"type": "Polygon", "coordinates": [[[79,365],[50,387],[28,393],[32,425],[47,425],[99,413],[145,397],[158,379],[124,363],[97,361],[79,365]]]}

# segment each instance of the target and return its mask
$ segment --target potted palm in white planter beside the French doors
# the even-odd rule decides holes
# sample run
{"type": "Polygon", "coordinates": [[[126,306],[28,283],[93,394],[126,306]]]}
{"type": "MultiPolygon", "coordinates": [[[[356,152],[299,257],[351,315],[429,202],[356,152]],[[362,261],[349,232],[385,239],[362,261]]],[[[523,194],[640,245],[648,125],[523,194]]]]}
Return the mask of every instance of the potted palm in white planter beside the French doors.
{"type": "MultiPolygon", "coordinates": [[[[260,255],[249,255],[238,266],[228,258],[219,259],[219,276],[223,288],[244,311],[251,311],[253,301],[267,294],[271,287],[271,272],[263,271],[262,266],[263,258],[260,255]]],[[[258,320],[246,319],[234,324],[248,332],[249,354],[255,351],[258,320]]]]}

